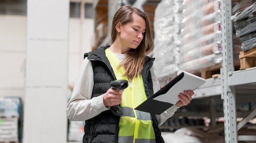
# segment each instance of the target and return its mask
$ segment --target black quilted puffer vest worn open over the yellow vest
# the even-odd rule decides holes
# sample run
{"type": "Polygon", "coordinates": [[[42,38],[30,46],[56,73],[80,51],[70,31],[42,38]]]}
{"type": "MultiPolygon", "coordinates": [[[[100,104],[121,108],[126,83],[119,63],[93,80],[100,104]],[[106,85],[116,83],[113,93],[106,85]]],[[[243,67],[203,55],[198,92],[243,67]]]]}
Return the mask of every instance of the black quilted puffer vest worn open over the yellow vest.
{"type": "MultiPolygon", "coordinates": [[[[106,93],[110,88],[110,82],[116,80],[114,71],[105,56],[105,49],[109,46],[101,46],[99,49],[84,54],[84,58],[88,57],[92,62],[94,71],[94,87],[92,98],[106,93]]],[[[153,65],[155,58],[146,56],[144,68],[141,72],[146,95],[153,95],[153,83],[150,74],[150,68],[153,65]]],[[[161,137],[161,132],[158,128],[158,122],[155,115],[151,114],[153,119],[153,128],[157,143],[164,143],[161,137]]],[[[114,115],[110,110],[104,111],[85,121],[83,143],[117,143],[119,130],[119,116],[114,115]]]]}

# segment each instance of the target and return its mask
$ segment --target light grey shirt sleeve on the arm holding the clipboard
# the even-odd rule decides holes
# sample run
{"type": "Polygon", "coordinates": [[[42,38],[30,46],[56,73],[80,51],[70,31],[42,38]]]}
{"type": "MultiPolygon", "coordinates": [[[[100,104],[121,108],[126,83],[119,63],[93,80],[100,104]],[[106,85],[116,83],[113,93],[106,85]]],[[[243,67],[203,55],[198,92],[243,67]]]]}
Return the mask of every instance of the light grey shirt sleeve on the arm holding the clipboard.
{"type": "MultiPolygon", "coordinates": [[[[156,93],[160,89],[159,81],[158,81],[157,77],[155,76],[155,72],[154,72],[153,68],[150,69],[150,73],[151,73],[151,78],[152,78],[152,82],[153,82],[153,90],[154,90],[154,93],[156,93]]],[[[156,119],[158,121],[158,126],[161,126],[167,119],[172,117],[178,108],[180,108],[180,107],[173,105],[170,108],[168,108],[166,111],[164,111],[162,114],[156,115],[156,119]]]]}

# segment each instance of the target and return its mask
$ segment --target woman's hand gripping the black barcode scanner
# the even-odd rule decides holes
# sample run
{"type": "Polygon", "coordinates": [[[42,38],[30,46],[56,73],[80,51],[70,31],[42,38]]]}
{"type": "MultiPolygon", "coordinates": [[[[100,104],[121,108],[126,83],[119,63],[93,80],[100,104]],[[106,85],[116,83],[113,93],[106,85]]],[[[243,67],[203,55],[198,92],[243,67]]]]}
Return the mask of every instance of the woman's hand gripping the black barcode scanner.
{"type": "Polygon", "coordinates": [[[114,106],[121,104],[123,90],[110,88],[106,93],[103,94],[103,103],[107,106],[114,106]]]}

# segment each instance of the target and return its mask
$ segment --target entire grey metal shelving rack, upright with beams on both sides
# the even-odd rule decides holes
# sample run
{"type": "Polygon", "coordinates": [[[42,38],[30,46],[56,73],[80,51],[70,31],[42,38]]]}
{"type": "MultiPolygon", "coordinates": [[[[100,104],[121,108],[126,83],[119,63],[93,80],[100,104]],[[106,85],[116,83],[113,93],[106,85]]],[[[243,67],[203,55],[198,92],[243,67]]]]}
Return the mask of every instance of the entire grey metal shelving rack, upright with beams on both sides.
{"type": "MultiPolygon", "coordinates": [[[[221,95],[223,100],[225,142],[256,141],[256,136],[238,136],[238,130],[250,119],[256,116],[252,110],[242,121],[237,123],[236,92],[239,95],[251,94],[256,89],[256,67],[234,71],[233,63],[233,30],[232,30],[232,0],[221,0],[221,32],[222,32],[222,68],[218,78],[207,79],[207,82],[195,90],[194,98],[221,95]],[[245,91],[241,93],[241,91],[245,91]],[[249,91],[248,93],[246,91],[249,91]]],[[[254,95],[255,97],[255,92],[254,95]]]]}

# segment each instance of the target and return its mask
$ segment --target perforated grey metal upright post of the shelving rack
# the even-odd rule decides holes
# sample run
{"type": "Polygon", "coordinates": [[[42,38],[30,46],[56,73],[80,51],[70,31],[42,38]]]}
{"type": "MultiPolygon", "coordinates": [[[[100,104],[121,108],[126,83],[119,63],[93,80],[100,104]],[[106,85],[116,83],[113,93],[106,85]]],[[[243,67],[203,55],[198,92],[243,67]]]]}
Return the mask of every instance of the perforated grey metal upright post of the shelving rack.
{"type": "Polygon", "coordinates": [[[233,62],[233,27],[231,21],[231,0],[220,1],[221,10],[221,48],[222,68],[221,73],[221,98],[223,100],[225,143],[238,143],[236,123],[236,91],[229,87],[228,72],[234,71],[233,62]]]}

